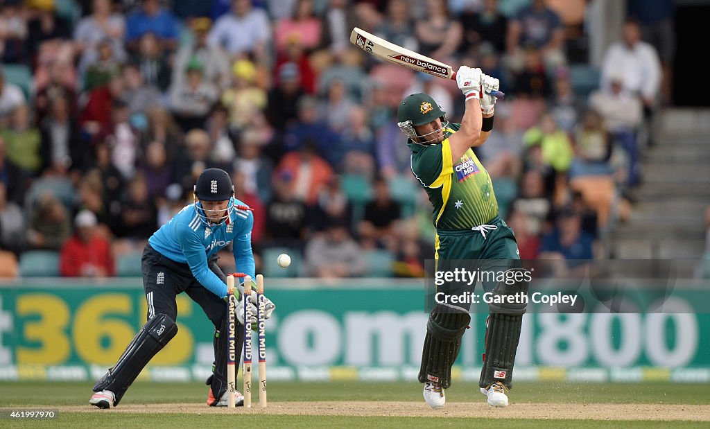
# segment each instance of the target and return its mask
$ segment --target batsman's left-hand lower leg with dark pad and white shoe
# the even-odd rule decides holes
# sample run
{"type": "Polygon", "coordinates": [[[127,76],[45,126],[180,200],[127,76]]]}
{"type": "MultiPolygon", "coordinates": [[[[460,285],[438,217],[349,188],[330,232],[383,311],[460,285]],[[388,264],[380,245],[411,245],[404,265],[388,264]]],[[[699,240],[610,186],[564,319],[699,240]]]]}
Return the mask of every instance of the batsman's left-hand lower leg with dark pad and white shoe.
{"type": "Polygon", "coordinates": [[[443,389],[451,386],[451,367],[461,349],[461,337],[471,322],[465,308],[435,306],[427,322],[422,348],[419,381],[424,383],[424,398],[432,408],[444,406],[443,389]]]}

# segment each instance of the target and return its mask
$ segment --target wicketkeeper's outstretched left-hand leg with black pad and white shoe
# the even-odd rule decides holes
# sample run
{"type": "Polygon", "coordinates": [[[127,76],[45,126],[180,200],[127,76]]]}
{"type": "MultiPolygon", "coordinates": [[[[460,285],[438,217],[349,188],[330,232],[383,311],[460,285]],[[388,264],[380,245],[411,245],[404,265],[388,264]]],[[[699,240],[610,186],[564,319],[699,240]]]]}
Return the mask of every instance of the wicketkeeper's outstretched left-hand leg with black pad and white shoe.
{"type": "Polygon", "coordinates": [[[163,313],[151,317],[146,325],[143,325],[138,331],[136,337],[133,337],[124,354],[119,357],[119,361],[94,385],[94,392],[110,391],[113,393],[113,398],[110,395],[102,397],[99,394],[94,394],[89,402],[99,408],[109,408],[111,401],[113,402],[112,406],[119,405],[124,393],[138,374],[141,374],[143,367],[177,333],[178,325],[175,325],[172,317],[163,313]]]}

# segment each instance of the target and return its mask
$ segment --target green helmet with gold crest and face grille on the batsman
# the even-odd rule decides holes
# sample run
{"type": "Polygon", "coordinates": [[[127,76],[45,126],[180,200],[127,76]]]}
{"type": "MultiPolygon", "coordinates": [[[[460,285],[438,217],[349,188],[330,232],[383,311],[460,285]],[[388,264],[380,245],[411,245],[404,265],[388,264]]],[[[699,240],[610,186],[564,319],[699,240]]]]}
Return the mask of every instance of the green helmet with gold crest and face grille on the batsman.
{"type": "Polygon", "coordinates": [[[439,104],[434,101],[434,99],[423,93],[411,94],[409,97],[402,100],[397,109],[397,125],[400,130],[410,139],[413,143],[417,144],[435,144],[437,143],[437,133],[449,125],[449,121],[446,120],[446,112],[444,112],[439,104]],[[424,124],[429,124],[437,118],[441,118],[442,127],[432,131],[422,136],[417,135],[415,131],[415,126],[420,126],[424,124]],[[420,139],[425,139],[424,141],[415,141],[414,139],[419,137],[420,139]],[[431,137],[431,138],[430,138],[431,137]]]}

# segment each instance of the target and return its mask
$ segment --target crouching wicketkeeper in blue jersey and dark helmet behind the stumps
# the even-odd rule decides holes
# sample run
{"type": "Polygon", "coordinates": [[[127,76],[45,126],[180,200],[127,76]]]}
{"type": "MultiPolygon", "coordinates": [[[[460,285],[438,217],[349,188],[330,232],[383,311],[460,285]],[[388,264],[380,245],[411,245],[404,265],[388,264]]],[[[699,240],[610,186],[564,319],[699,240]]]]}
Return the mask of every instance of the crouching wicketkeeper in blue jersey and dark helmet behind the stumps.
{"type": "MultiPolygon", "coordinates": [[[[133,338],[118,362],[94,385],[89,403],[99,408],[117,406],[136,376],[146,364],[178,333],[175,321],[178,308],[175,297],[185,292],[200,305],[214,324],[214,360],[210,377],[208,406],[226,406],[227,332],[226,276],[217,266],[217,252],[233,243],[237,271],[254,276],[251,251],[251,209],[234,197],[229,174],[219,168],[207,168],[195,184],[194,201],[160,227],[143,251],[141,268],[143,288],[148,300],[148,322],[133,338]]],[[[244,286],[240,286],[240,291],[244,286]]],[[[252,294],[254,300],[255,294],[252,294]]],[[[244,294],[236,309],[236,359],[239,362],[244,342],[244,294]]],[[[266,299],[265,320],[275,305],[266,299]]],[[[247,321],[249,322],[249,321],[247,321]]],[[[251,320],[256,322],[256,316],[251,320]]],[[[237,405],[244,396],[237,392],[237,405]]]]}

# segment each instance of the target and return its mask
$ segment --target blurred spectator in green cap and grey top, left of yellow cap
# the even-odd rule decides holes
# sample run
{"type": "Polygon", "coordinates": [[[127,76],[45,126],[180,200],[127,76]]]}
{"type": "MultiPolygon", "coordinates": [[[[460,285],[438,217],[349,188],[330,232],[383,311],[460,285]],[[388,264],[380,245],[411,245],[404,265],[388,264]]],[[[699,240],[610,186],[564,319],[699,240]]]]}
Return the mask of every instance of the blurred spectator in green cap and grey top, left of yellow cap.
{"type": "Polygon", "coordinates": [[[182,131],[203,128],[210,110],[219,97],[217,88],[204,79],[204,65],[192,58],[185,67],[186,79],[170,87],[170,109],[182,131]]]}

